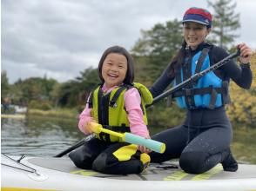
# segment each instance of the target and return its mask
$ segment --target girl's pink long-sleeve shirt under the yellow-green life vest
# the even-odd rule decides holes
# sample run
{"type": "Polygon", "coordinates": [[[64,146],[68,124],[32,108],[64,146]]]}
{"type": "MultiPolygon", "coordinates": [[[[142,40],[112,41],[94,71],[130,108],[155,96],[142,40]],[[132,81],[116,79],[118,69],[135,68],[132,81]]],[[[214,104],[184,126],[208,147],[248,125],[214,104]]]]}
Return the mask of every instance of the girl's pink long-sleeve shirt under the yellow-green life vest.
{"type": "MultiPolygon", "coordinates": [[[[104,93],[108,93],[115,88],[116,86],[110,89],[107,89],[105,85],[103,85],[102,90],[104,91],[104,93]]],[[[140,107],[141,97],[138,93],[138,89],[135,89],[135,88],[128,89],[127,91],[125,91],[124,98],[125,98],[125,109],[127,111],[128,120],[130,122],[131,133],[148,138],[149,132],[145,125],[145,122],[143,121],[143,112],[140,107]]],[[[87,135],[87,133],[84,130],[84,124],[86,122],[91,122],[91,121],[93,121],[93,117],[91,116],[91,109],[89,109],[88,103],[86,103],[84,111],[79,115],[79,122],[78,122],[78,128],[85,135],[87,135]]]]}

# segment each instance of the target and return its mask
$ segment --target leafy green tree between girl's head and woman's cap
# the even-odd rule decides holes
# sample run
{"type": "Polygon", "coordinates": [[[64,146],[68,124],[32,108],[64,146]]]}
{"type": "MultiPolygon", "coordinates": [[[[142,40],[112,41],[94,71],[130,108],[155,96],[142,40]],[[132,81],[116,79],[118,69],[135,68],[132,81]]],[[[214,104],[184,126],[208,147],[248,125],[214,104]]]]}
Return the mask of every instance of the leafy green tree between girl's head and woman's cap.
{"type": "Polygon", "coordinates": [[[157,23],[152,30],[141,30],[141,34],[131,53],[137,63],[137,80],[152,84],[180,48],[182,24],[177,19],[157,23]]]}

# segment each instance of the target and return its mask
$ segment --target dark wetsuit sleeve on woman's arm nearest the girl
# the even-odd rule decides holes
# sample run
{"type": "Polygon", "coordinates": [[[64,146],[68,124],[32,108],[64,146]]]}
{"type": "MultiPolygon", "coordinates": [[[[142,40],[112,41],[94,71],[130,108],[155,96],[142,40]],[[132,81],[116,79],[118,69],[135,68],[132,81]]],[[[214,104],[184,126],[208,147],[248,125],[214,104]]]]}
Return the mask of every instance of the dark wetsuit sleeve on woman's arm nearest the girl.
{"type": "Polygon", "coordinates": [[[163,93],[167,86],[172,83],[173,79],[174,77],[168,76],[168,71],[167,69],[165,69],[162,75],[158,78],[156,82],[153,83],[152,87],[150,88],[152,96],[156,97],[163,93]]]}

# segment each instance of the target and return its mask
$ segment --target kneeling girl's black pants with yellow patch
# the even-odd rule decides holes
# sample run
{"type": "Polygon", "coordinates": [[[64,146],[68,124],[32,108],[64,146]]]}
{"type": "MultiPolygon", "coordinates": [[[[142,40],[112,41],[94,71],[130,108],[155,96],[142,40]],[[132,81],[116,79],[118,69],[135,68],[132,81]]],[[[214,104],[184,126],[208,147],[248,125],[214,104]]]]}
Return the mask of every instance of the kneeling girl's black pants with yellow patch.
{"type": "Polygon", "coordinates": [[[93,138],[89,142],[85,142],[82,147],[72,151],[69,157],[77,168],[93,169],[111,175],[139,174],[147,164],[141,161],[141,152],[137,148],[134,153],[126,154],[130,157],[127,160],[119,161],[117,156],[113,155],[118,149],[125,149],[128,145],[131,144],[126,142],[106,143],[93,138]]]}

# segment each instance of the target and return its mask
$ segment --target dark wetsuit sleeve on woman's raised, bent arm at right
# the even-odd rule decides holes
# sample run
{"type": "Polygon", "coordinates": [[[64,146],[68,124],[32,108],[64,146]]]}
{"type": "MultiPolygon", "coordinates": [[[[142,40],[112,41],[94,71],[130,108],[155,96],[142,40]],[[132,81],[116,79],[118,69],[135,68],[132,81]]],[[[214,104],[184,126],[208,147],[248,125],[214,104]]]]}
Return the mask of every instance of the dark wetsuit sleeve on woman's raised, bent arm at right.
{"type": "MultiPolygon", "coordinates": [[[[212,49],[212,63],[218,63],[220,60],[228,56],[229,54],[225,49],[219,47],[214,47],[212,49]]],[[[221,71],[224,73],[224,76],[231,78],[233,82],[239,85],[243,89],[250,89],[253,82],[253,73],[248,65],[239,66],[233,60],[229,61],[222,67],[221,71]]]]}

